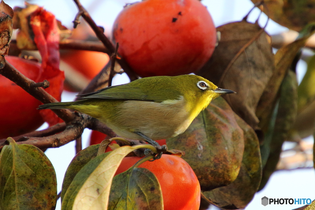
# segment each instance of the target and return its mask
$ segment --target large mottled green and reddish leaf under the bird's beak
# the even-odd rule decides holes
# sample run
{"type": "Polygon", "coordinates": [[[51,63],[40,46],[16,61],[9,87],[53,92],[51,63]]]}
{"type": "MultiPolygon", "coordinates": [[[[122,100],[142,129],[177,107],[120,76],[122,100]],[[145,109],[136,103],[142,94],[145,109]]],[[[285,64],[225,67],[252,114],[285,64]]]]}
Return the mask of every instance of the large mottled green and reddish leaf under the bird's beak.
{"type": "Polygon", "coordinates": [[[167,139],[169,148],[184,150],[202,190],[232,183],[238,176],[244,150],[237,116],[219,97],[193,120],[182,134],[167,139]]]}

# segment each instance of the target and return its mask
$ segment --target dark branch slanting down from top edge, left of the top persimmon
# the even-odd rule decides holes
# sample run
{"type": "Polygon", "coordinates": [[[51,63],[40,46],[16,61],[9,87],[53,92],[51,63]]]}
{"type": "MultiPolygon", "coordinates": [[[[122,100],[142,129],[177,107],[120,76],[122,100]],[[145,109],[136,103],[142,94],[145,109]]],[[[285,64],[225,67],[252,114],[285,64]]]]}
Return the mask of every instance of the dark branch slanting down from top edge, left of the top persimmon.
{"type": "MultiPolygon", "coordinates": [[[[74,22],[78,22],[78,15],[81,15],[84,20],[91,26],[92,30],[95,32],[95,35],[100,39],[100,41],[105,45],[105,47],[108,49],[110,54],[115,53],[115,47],[111,43],[111,41],[105,36],[104,31],[96,25],[94,20],[91,18],[90,14],[84,9],[82,4],[80,3],[79,0],[73,0],[74,3],[77,5],[77,8],[79,10],[74,22]]],[[[119,65],[123,68],[123,70],[126,72],[128,77],[130,78],[130,81],[134,81],[138,79],[136,74],[132,71],[128,63],[122,58],[120,60],[117,60],[119,65]]]]}

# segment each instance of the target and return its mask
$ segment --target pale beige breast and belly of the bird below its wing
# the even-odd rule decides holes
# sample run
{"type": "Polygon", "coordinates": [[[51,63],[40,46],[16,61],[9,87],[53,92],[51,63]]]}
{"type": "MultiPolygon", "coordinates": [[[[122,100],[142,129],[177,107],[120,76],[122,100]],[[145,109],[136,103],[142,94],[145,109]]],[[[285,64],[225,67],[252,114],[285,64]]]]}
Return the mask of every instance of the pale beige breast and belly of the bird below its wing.
{"type": "Polygon", "coordinates": [[[107,126],[129,139],[142,140],[134,131],[153,140],[170,138],[183,133],[191,123],[183,97],[161,103],[129,100],[120,104],[118,110],[117,116],[112,122],[107,122],[107,126]]]}

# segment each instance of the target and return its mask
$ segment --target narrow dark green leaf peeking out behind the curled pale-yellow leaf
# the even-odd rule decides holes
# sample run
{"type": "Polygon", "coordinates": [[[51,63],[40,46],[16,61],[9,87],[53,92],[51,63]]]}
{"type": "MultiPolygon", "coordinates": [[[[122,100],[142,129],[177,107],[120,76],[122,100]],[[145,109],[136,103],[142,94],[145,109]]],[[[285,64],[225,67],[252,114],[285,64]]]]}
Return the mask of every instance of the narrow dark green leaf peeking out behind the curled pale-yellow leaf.
{"type": "Polygon", "coordinates": [[[81,150],[79,153],[77,153],[76,156],[73,157],[72,161],[70,162],[66,170],[66,174],[62,182],[61,201],[63,200],[63,197],[65,196],[69,185],[71,184],[72,180],[77,175],[77,173],[90,160],[96,157],[99,146],[100,146],[99,144],[88,146],[87,148],[81,150]]]}

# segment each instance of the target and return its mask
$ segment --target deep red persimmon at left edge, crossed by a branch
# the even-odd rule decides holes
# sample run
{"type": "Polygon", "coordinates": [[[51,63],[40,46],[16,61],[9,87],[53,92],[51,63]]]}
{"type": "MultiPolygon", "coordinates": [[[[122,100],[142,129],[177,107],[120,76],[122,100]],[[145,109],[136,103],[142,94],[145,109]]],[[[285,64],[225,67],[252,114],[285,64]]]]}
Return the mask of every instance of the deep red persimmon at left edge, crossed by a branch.
{"type": "MultiPolygon", "coordinates": [[[[39,82],[43,69],[37,62],[14,56],[5,59],[23,75],[39,82]]],[[[33,131],[44,123],[36,109],[41,102],[2,75],[0,96],[0,139],[33,131]]]]}

